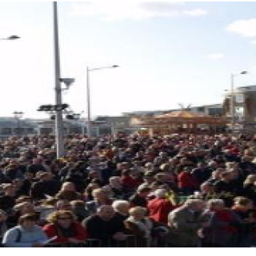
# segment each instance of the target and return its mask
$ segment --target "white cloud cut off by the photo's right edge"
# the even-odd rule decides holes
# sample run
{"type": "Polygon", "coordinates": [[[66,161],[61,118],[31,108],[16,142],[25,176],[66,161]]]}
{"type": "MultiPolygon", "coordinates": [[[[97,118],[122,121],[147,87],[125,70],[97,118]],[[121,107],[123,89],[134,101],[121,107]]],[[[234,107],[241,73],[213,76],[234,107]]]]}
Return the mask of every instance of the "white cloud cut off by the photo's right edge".
{"type": "Polygon", "coordinates": [[[256,18],[237,20],[230,23],[226,29],[246,38],[256,38],[256,18]]]}

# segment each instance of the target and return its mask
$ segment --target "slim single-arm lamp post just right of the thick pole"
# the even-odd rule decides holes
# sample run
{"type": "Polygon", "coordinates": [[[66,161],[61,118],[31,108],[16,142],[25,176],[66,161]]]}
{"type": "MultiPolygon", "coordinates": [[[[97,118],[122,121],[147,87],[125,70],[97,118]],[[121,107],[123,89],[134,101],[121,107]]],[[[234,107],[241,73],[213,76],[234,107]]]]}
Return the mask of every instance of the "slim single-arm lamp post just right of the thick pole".
{"type": "Polygon", "coordinates": [[[87,135],[91,137],[92,130],[91,130],[91,110],[90,110],[90,72],[96,70],[105,70],[105,69],[113,69],[118,67],[118,65],[113,66],[103,66],[103,67],[96,67],[96,68],[89,68],[86,67],[86,90],[87,90],[87,135]]]}

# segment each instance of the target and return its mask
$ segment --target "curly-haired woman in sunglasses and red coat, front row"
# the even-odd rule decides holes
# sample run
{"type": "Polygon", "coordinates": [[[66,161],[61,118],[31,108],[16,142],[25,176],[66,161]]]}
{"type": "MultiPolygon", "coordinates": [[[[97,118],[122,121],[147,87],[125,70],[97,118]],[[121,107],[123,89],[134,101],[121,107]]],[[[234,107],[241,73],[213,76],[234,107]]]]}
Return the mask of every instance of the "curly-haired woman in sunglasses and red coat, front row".
{"type": "Polygon", "coordinates": [[[56,210],[47,218],[48,224],[43,227],[48,238],[55,238],[53,243],[79,244],[86,241],[86,230],[69,210],[56,210]]]}

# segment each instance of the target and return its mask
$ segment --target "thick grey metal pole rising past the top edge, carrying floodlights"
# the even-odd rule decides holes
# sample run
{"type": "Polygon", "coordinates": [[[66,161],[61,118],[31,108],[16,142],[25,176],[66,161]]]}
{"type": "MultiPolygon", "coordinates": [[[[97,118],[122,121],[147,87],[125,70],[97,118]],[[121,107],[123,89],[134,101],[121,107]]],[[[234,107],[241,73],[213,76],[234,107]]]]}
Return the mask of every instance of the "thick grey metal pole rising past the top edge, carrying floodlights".
{"type": "MultiPolygon", "coordinates": [[[[55,101],[56,105],[62,105],[62,87],[59,81],[60,76],[60,58],[58,47],[58,6],[54,2],[54,63],[55,63],[55,101]]],[[[56,110],[55,118],[55,138],[57,148],[57,158],[64,155],[64,136],[62,110],[56,110]]]]}

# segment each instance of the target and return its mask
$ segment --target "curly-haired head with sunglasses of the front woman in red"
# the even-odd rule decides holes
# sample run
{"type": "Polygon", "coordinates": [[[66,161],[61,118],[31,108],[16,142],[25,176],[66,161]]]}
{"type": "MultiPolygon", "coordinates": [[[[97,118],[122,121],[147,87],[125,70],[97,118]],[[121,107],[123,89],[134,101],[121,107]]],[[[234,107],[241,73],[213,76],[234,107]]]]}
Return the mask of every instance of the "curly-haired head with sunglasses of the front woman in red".
{"type": "Polygon", "coordinates": [[[68,228],[76,217],[70,210],[56,210],[46,218],[47,222],[68,228]]]}

